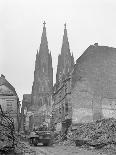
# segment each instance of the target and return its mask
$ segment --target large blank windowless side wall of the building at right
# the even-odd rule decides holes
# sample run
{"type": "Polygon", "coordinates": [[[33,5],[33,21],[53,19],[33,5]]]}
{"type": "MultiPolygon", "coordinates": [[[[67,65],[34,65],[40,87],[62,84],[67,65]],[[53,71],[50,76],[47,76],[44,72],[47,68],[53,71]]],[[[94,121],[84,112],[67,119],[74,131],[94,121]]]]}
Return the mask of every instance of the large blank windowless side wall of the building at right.
{"type": "Polygon", "coordinates": [[[72,73],[72,120],[116,117],[116,49],[94,44],[76,61],[72,73]]]}

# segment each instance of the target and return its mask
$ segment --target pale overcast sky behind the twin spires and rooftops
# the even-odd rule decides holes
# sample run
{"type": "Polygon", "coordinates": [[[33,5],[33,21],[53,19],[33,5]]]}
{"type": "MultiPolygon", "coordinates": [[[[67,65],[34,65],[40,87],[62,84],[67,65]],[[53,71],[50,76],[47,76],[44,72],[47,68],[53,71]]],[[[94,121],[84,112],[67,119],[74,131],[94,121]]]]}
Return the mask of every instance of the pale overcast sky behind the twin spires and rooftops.
{"type": "Polygon", "coordinates": [[[115,0],[0,0],[0,74],[20,101],[32,90],[44,20],[54,83],[65,22],[75,61],[96,42],[116,47],[115,0]]]}

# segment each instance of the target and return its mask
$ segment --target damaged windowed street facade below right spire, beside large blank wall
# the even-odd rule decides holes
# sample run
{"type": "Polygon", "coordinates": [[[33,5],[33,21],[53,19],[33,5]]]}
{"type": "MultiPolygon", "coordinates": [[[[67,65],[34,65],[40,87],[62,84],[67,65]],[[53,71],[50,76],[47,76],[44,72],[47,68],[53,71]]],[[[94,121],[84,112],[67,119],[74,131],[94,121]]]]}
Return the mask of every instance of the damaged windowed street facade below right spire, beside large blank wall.
{"type": "Polygon", "coordinates": [[[60,81],[54,86],[53,94],[54,104],[52,107],[53,125],[56,131],[65,132],[68,125],[71,124],[71,77],[60,81]]]}

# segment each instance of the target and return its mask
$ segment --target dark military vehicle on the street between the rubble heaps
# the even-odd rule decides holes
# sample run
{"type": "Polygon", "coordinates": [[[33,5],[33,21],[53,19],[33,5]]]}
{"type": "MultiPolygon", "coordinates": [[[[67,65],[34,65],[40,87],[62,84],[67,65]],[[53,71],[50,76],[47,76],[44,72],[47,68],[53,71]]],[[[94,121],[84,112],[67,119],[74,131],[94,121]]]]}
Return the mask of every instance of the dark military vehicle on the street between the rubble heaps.
{"type": "Polygon", "coordinates": [[[42,143],[44,146],[52,145],[52,132],[47,128],[47,126],[42,125],[41,127],[34,129],[29,136],[29,144],[37,146],[42,143]]]}

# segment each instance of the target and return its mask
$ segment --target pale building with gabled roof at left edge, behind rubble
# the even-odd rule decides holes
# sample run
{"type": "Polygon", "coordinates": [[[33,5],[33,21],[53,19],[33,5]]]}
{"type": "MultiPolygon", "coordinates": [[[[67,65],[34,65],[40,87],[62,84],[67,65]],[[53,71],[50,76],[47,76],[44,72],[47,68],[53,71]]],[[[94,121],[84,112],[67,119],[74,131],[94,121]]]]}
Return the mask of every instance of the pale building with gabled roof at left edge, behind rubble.
{"type": "Polygon", "coordinates": [[[19,131],[20,104],[15,88],[5,79],[0,77],[0,105],[3,112],[10,115],[15,124],[15,130],[19,131]]]}

